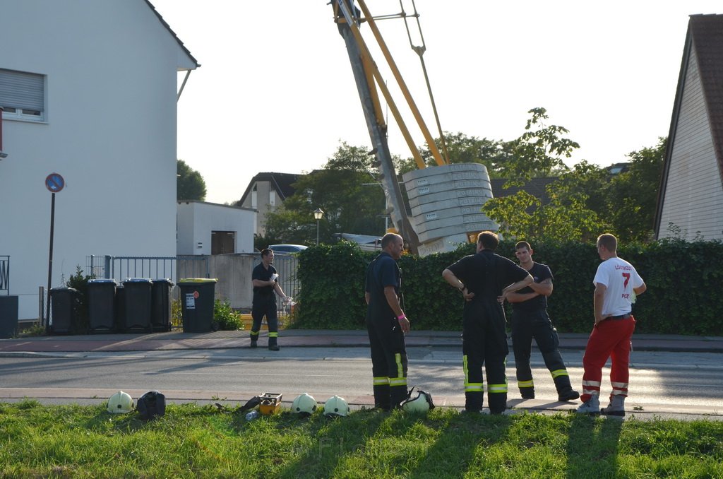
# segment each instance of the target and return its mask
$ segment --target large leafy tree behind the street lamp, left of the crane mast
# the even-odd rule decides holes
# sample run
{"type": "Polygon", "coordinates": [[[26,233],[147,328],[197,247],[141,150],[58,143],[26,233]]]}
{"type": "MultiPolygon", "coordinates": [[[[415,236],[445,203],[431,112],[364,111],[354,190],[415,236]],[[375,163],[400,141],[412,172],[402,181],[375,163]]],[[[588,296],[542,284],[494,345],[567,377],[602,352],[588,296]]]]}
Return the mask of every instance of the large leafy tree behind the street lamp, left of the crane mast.
{"type": "Polygon", "coordinates": [[[342,142],[324,169],[300,177],[294,195],[284,200],[283,207],[268,213],[267,236],[314,244],[316,208],[324,211],[319,222],[322,242],[330,242],[334,233],[383,234],[385,200],[377,185],[374,159],[367,148],[342,142]]]}

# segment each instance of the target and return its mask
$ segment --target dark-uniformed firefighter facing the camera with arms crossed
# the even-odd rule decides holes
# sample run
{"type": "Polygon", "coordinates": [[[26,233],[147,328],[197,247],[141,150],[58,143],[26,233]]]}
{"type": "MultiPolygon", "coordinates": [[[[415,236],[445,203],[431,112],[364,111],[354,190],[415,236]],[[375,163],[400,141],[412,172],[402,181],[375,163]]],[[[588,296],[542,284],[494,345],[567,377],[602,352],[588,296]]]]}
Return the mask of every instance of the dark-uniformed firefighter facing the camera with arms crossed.
{"type": "Polygon", "coordinates": [[[523,399],[534,399],[535,384],[530,369],[530,349],[532,338],[542,353],[544,364],[555,381],[557,399],[572,401],[578,399],[580,393],[570,386],[570,376],[562,361],[560,339],[557,330],[547,315],[547,297],[552,294],[552,271],[547,265],[532,260],[534,250],[526,241],[515,245],[515,256],[520,266],[529,272],[534,279],[529,287],[510,293],[507,300],[512,304],[512,349],[515,353],[517,369],[517,385],[523,399]]]}

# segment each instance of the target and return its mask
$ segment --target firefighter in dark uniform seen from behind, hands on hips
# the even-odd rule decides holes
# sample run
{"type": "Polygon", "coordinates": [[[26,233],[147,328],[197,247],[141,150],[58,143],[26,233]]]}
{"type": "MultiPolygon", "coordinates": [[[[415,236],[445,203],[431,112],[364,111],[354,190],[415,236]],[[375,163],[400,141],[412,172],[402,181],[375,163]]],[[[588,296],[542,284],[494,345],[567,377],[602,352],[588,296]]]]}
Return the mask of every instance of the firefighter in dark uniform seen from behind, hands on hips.
{"type": "Polygon", "coordinates": [[[480,412],[484,400],[482,366],[487,373],[490,414],[502,414],[507,407],[505,360],[507,321],[502,302],[508,293],[528,286],[532,276],[508,258],[495,254],[497,234],[482,232],[477,237],[477,253],[465,256],[442,277],[459,289],[465,299],[462,354],[466,412],[480,412]]]}

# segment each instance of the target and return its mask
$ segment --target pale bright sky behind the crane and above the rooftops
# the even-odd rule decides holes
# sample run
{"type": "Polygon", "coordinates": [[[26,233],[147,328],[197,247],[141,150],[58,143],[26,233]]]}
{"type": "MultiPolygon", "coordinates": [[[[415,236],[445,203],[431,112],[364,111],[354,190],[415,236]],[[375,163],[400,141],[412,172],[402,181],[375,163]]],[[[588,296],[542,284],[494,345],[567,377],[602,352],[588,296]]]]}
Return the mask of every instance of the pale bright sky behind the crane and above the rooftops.
{"type": "MultiPolygon", "coordinates": [[[[233,203],[262,171],[320,168],[340,142],[371,149],[343,38],[328,0],[150,0],[201,64],[178,103],[178,158],[206,200],[233,203]]],[[[367,0],[375,16],[419,13],[424,63],[442,130],[490,140],[524,132],[528,111],[581,146],[567,161],[607,166],[668,135],[688,15],[719,0],[367,0]]],[[[419,59],[401,18],[378,22],[437,137],[419,59]]],[[[408,18],[412,42],[419,28],[408,18]]],[[[367,25],[382,77],[393,77],[367,25]]],[[[179,74],[179,88],[184,75],[179,74]]],[[[398,90],[416,145],[424,136],[398,90]]],[[[389,116],[389,146],[411,153],[389,116]]]]}

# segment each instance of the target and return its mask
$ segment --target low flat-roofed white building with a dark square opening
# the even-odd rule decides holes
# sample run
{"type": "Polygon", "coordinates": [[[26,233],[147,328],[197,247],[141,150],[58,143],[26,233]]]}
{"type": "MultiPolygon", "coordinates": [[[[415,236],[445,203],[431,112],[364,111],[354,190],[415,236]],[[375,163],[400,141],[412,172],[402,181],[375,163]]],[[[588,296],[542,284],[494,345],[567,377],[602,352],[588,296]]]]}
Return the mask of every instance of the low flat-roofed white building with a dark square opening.
{"type": "Polygon", "coordinates": [[[253,253],[256,210],[197,200],[178,202],[178,255],[253,253]]]}

